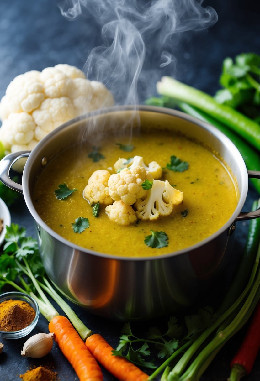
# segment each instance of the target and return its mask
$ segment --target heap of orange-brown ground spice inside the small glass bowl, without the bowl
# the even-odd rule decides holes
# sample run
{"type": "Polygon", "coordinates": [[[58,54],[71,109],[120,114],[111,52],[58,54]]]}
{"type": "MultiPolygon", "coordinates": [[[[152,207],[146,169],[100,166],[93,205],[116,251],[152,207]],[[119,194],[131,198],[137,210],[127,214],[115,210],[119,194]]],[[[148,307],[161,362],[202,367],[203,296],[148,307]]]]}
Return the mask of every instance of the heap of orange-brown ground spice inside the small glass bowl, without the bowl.
{"type": "Polygon", "coordinates": [[[0,331],[13,332],[27,327],[35,318],[34,309],[24,300],[0,303],[0,331]]]}

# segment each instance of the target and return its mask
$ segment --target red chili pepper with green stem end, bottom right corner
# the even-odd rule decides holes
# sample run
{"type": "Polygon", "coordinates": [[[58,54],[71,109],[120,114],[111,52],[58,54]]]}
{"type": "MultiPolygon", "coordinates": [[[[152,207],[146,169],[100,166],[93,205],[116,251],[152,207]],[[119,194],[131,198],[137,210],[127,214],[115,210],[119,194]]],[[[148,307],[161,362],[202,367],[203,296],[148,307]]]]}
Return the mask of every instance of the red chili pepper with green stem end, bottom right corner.
{"type": "Polygon", "coordinates": [[[230,363],[230,381],[238,381],[242,376],[248,375],[254,365],[260,349],[260,301],[255,307],[253,317],[247,329],[246,336],[238,352],[230,363]]]}

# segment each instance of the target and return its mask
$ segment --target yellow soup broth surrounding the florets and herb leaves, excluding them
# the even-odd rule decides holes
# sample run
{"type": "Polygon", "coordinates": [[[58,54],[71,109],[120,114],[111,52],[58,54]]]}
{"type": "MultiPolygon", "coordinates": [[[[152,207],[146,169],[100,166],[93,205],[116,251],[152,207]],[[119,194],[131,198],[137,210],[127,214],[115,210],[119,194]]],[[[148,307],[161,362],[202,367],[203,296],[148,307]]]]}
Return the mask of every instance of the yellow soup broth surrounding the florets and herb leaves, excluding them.
{"type": "Polygon", "coordinates": [[[90,145],[68,147],[40,175],[35,187],[35,208],[43,221],[65,239],[101,253],[157,256],[206,239],[233,214],[238,202],[234,181],[223,163],[205,147],[169,131],[148,131],[133,136],[132,152],[121,150],[118,142],[129,143],[112,135],[99,144],[99,151],[105,158],[98,162],[88,157],[92,151],[90,145]],[[115,173],[113,165],[119,157],[127,159],[135,155],[142,156],[146,165],[151,161],[159,163],[164,168],[160,180],[168,180],[183,192],[183,202],[175,206],[169,216],[160,216],[154,221],[139,220],[130,226],[110,221],[102,205],[96,218],[82,195],[88,178],[98,169],[115,173]],[[188,170],[175,172],[165,168],[172,155],[188,162],[188,170]],[[58,200],[55,190],[63,183],[77,191],[65,200],[58,200]],[[183,216],[181,212],[186,210],[188,214],[183,216]],[[79,234],[74,233],[71,223],[80,216],[88,218],[90,226],[79,234]],[[164,231],[169,245],[160,249],[146,246],[144,238],[151,234],[151,229],[164,231]]]}

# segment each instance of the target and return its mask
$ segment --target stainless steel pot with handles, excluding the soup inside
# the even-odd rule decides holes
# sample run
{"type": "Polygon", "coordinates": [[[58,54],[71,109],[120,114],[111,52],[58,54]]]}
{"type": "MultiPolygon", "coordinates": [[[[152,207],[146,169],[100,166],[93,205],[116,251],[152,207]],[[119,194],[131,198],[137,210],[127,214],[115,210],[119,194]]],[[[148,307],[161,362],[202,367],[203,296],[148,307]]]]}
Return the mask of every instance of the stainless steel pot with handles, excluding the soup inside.
{"type": "MultiPolygon", "coordinates": [[[[241,212],[248,191],[247,171],[234,144],[219,130],[181,112],[159,107],[114,107],[71,120],[40,141],[32,152],[7,155],[0,162],[0,180],[22,192],[35,219],[43,264],[56,287],[71,301],[95,314],[116,319],[148,319],[191,306],[222,276],[232,260],[236,221],[260,217],[260,210],[241,212]],[[233,215],[217,232],[186,250],[151,258],[106,255],[63,239],[37,214],[32,203],[35,182],[47,163],[68,144],[91,139],[103,131],[124,131],[146,125],[166,127],[196,138],[217,151],[231,169],[239,188],[233,215]],[[10,179],[16,160],[28,157],[22,185],[10,179]]],[[[225,207],[225,205],[223,205],[225,207]]],[[[109,236],[104,237],[109,239],[109,236]]]]}

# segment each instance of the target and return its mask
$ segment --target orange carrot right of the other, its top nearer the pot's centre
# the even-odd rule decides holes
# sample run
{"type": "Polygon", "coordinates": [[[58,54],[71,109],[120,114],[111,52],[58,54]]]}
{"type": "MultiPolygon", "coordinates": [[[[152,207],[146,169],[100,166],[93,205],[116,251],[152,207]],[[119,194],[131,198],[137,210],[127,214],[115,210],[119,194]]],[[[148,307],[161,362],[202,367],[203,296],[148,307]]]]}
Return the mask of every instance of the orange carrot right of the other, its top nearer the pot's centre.
{"type": "Polygon", "coordinates": [[[89,336],[86,346],[104,368],[120,381],[146,381],[148,375],[124,357],[113,356],[113,348],[98,333],[89,336]]]}

